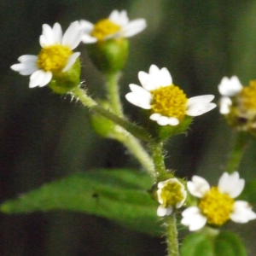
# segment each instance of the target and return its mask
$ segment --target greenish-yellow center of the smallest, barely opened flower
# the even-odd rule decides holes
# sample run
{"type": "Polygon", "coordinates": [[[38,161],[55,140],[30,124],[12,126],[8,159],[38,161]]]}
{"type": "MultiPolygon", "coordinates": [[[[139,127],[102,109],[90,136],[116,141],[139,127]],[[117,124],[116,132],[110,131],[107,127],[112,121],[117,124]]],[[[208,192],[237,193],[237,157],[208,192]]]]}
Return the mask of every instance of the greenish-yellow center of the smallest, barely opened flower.
{"type": "Polygon", "coordinates": [[[163,207],[175,207],[177,203],[183,201],[183,187],[177,181],[168,181],[165,186],[160,189],[160,198],[163,201],[163,207]]]}

